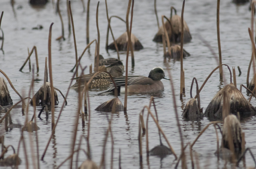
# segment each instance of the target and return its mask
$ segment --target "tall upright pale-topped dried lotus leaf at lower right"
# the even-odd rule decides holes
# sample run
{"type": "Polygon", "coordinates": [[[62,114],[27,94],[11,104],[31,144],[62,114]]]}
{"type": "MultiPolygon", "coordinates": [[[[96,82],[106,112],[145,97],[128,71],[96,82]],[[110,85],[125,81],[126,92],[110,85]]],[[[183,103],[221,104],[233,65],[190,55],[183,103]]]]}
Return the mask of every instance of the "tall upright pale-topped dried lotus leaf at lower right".
{"type": "Polygon", "coordinates": [[[224,119],[222,145],[224,148],[230,149],[231,144],[234,145],[235,154],[239,155],[242,150],[242,128],[239,120],[235,115],[228,115],[224,119]],[[229,138],[231,136],[231,138],[229,138]]]}

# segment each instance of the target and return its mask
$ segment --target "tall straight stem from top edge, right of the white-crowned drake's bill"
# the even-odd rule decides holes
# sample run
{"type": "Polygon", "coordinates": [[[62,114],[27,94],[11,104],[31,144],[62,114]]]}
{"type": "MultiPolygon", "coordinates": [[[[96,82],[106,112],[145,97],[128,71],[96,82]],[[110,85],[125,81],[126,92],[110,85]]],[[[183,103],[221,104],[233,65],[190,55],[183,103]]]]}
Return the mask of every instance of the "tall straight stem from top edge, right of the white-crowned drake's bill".
{"type": "Polygon", "coordinates": [[[183,14],[184,14],[185,0],[183,0],[182,10],[181,10],[181,38],[180,38],[180,91],[179,98],[182,99],[182,94],[185,93],[185,77],[183,76],[183,37],[184,37],[184,23],[183,23],[183,14]]]}

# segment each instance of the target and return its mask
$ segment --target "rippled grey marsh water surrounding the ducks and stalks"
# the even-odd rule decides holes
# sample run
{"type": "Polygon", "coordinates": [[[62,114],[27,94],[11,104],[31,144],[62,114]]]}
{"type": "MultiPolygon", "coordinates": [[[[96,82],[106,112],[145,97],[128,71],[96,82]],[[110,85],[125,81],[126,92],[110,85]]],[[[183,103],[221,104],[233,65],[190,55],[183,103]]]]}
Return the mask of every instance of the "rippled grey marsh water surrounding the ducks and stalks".
{"type": "MultiPolygon", "coordinates": [[[[35,78],[43,80],[44,77],[44,64],[45,57],[48,56],[48,34],[49,26],[51,22],[54,22],[52,27],[52,73],[54,79],[54,86],[62,91],[65,95],[70,84],[70,79],[73,73],[69,70],[72,69],[75,63],[75,50],[72,32],[68,31],[68,19],[67,19],[67,6],[66,1],[60,1],[60,10],[64,22],[65,38],[66,40],[56,41],[55,39],[61,35],[61,23],[58,14],[56,13],[56,1],[48,2],[45,6],[35,7],[28,3],[28,0],[15,0],[15,4],[12,7],[9,0],[1,0],[0,11],[4,11],[1,29],[4,32],[4,54],[0,51],[0,69],[3,70],[12,81],[16,90],[24,95],[28,95],[29,86],[32,79],[32,73],[29,72],[28,65],[23,69],[23,72],[19,72],[19,68],[24,63],[28,56],[28,49],[31,50],[33,46],[37,47],[38,60],[39,60],[39,73],[35,74],[35,78]],[[32,29],[42,25],[42,29],[32,29]]],[[[96,6],[98,1],[90,2],[90,41],[97,39],[96,29],[96,6]]],[[[108,0],[109,16],[117,15],[125,19],[127,1],[108,0]]],[[[87,2],[85,1],[85,4],[87,2]]],[[[181,14],[182,1],[162,0],[157,2],[158,18],[161,24],[161,15],[170,15],[170,6],[174,6],[177,9],[177,14],[181,14]]],[[[209,119],[204,117],[200,121],[186,121],[182,119],[182,111],[187,103],[190,90],[190,84],[193,77],[196,77],[199,86],[204,82],[208,74],[218,65],[218,62],[210,50],[206,47],[205,43],[200,40],[200,36],[203,37],[212,46],[212,49],[218,55],[217,45],[217,28],[216,28],[216,7],[217,1],[211,0],[187,0],[185,2],[184,19],[190,29],[192,40],[190,43],[184,45],[184,49],[188,51],[191,56],[187,57],[183,61],[183,67],[185,70],[185,91],[186,94],[183,100],[179,99],[179,79],[180,79],[180,61],[169,61],[171,68],[173,83],[175,88],[175,97],[177,102],[177,109],[179,115],[180,127],[184,142],[193,142],[198,133],[209,123],[209,119]]],[[[251,13],[248,10],[249,3],[237,6],[231,2],[231,0],[220,2],[220,39],[222,49],[222,63],[228,64],[230,67],[236,68],[236,80],[237,86],[240,84],[246,85],[246,74],[251,58],[251,42],[248,33],[248,27],[250,27],[251,13]],[[242,74],[238,76],[237,66],[240,66],[242,74]]],[[[83,12],[82,3],[80,0],[71,1],[72,14],[74,19],[74,28],[76,35],[78,56],[81,55],[86,44],[86,12],[83,12]]],[[[86,6],[87,8],[87,6],[86,6]]],[[[119,37],[125,32],[126,27],[124,23],[118,19],[112,18],[111,26],[114,32],[115,38],[119,37]]],[[[116,58],[115,51],[105,50],[106,39],[106,9],[105,2],[99,3],[99,29],[100,29],[100,54],[105,58],[116,58]]],[[[141,0],[135,1],[132,33],[140,40],[144,49],[135,51],[135,67],[131,68],[131,60],[129,58],[128,74],[129,75],[144,75],[148,76],[148,73],[153,67],[161,66],[165,70],[163,58],[163,47],[161,43],[155,43],[152,41],[155,33],[157,32],[157,22],[154,14],[154,2],[141,0]]],[[[109,37],[109,42],[112,42],[112,38],[109,37]]],[[[83,66],[88,66],[93,63],[94,59],[95,43],[92,44],[90,49],[84,53],[81,60],[83,66]]],[[[120,52],[121,60],[125,61],[126,52],[120,52]]],[[[35,64],[34,53],[31,57],[31,63],[35,64]]],[[[216,71],[206,83],[206,86],[200,92],[201,107],[206,109],[213,96],[229,81],[229,72],[226,67],[223,67],[224,80],[219,80],[219,72],[216,71]]],[[[79,72],[80,73],[80,72],[79,72]]],[[[86,69],[84,73],[89,73],[89,69],[86,69]]],[[[252,77],[252,71],[251,76],[252,77]]],[[[3,77],[1,75],[1,77],[3,77]]],[[[251,80],[251,78],[250,78],[251,80]]],[[[7,80],[6,80],[7,82],[7,80]]],[[[164,91],[157,94],[134,94],[128,96],[127,114],[119,112],[113,114],[112,131],[114,137],[114,168],[118,168],[118,156],[119,149],[121,149],[121,167],[122,168],[140,168],[139,163],[139,149],[138,149],[138,116],[144,105],[148,105],[150,97],[153,95],[155,98],[156,108],[158,111],[159,124],[165,132],[170,144],[173,146],[177,155],[180,155],[180,137],[178,127],[175,119],[174,101],[172,99],[172,91],[170,88],[170,82],[162,80],[164,84],[164,91]]],[[[74,83],[74,82],[73,82],[74,83]]],[[[43,81],[36,81],[34,85],[34,93],[40,88],[43,81]]],[[[13,102],[16,103],[20,99],[18,95],[12,90],[7,82],[7,86],[13,102]]],[[[195,89],[195,87],[194,87],[195,89]]],[[[110,117],[111,113],[98,112],[94,109],[101,103],[113,98],[113,95],[104,94],[99,95],[101,91],[98,89],[92,89],[89,92],[90,95],[90,108],[91,108],[91,126],[90,126],[90,145],[92,160],[98,165],[101,160],[103,139],[108,127],[107,115],[110,117]]],[[[245,89],[242,93],[249,99],[245,89]]],[[[59,105],[55,107],[55,116],[59,114],[63,98],[59,95],[59,105]]],[[[193,90],[195,95],[195,90],[193,90]]],[[[124,103],[124,95],[121,94],[119,99],[124,103]]],[[[67,97],[68,105],[63,108],[59,123],[56,128],[54,137],[52,138],[49,148],[46,152],[44,161],[40,161],[41,168],[56,168],[62,161],[64,161],[71,151],[72,137],[74,130],[74,120],[78,107],[78,93],[71,89],[67,97]]],[[[253,106],[256,106],[255,99],[251,101],[253,106]]],[[[41,107],[36,108],[38,114],[41,107]]],[[[11,111],[12,120],[14,123],[23,124],[25,116],[22,116],[20,109],[13,109],[11,111]]],[[[33,107],[29,107],[29,118],[33,115],[33,107]]],[[[3,114],[0,115],[1,117],[3,114]]],[[[37,117],[36,117],[37,118],[37,117]]],[[[41,115],[41,118],[37,118],[37,125],[40,127],[38,130],[39,135],[39,154],[42,155],[46,143],[51,134],[51,115],[49,119],[46,119],[45,114],[41,115]]],[[[245,132],[246,147],[251,148],[254,155],[256,155],[255,144],[255,120],[256,117],[250,117],[241,121],[243,132],[245,132]]],[[[78,140],[82,134],[87,134],[88,117],[86,117],[85,127],[82,127],[81,117],[78,124],[78,135],[76,141],[76,147],[78,140]]],[[[152,149],[159,144],[157,128],[150,118],[149,120],[149,146],[152,149]]],[[[0,125],[0,135],[5,136],[5,144],[13,145],[17,149],[18,141],[20,138],[21,130],[18,128],[9,129],[5,131],[4,124],[0,125]]],[[[24,137],[26,140],[29,168],[34,168],[31,160],[31,156],[35,156],[30,151],[29,135],[32,136],[33,143],[35,143],[35,133],[25,132],[24,137]]],[[[219,138],[221,135],[219,134],[219,138]]],[[[143,141],[143,167],[144,168],[173,168],[176,161],[174,161],[173,155],[168,155],[164,159],[160,159],[157,156],[150,156],[148,166],[146,163],[146,148],[145,148],[145,136],[142,137],[143,141]]],[[[165,145],[167,143],[164,142],[165,145]]],[[[34,144],[35,145],[35,144],[34,144]]],[[[216,151],[216,134],[213,126],[210,126],[205,133],[199,138],[194,145],[193,149],[197,152],[199,157],[199,165],[201,168],[223,168],[225,165],[224,160],[217,160],[214,155],[216,151]]],[[[82,148],[86,149],[86,142],[82,141],[82,148]]],[[[108,139],[106,146],[106,168],[110,168],[110,150],[111,141],[108,139]]],[[[8,153],[11,153],[9,151],[8,153]]],[[[25,158],[23,148],[20,150],[20,158],[22,164],[19,168],[25,168],[25,158]]],[[[86,160],[86,155],[80,152],[79,165],[86,160]]],[[[191,167],[189,157],[187,156],[188,167],[191,167]]],[[[69,168],[70,161],[63,164],[61,168],[69,168]]],[[[252,158],[249,154],[246,155],[246,166],[254,166],[252,158]]],[[[73,163],[73,168],[75,163],[73,163]]],[[[6,168],[6,167],[0,167],[6,168]]],[[[227,164],[227,168],[231,168],[231,165],[227,164]]],[[[239,168],[243,168],[242,163],[239,168]]]]}

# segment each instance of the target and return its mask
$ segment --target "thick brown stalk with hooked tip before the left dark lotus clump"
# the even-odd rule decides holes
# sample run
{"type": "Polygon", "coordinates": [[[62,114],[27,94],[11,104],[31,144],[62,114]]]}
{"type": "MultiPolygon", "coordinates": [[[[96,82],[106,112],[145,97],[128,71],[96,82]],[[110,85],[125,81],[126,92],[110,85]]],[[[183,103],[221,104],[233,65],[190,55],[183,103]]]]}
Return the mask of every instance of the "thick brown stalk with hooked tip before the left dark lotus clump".
{"type": "Polygon", "coordinates": [[[52,28],[53,22],[50,25],[49,30],[49,38],[48,38],[48,65],[49,65],[49,77],[50,77],[50,84],[51,84],[51,129],[53,129],[55,125],[54,120],[54,106],[55,106],[55,99],[54,99],[54,89],[53,89],[53,80],[52,80],[52,67],[51,67],[51,28],[52,28]]]}

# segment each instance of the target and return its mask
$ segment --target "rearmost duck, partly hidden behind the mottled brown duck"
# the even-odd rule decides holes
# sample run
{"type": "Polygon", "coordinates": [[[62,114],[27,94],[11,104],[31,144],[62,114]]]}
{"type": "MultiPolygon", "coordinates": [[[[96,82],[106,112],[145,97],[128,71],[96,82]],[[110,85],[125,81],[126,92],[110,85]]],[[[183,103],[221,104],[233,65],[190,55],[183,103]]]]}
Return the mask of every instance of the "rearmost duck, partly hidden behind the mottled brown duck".
{"type": "MultiPolygon", "coordinates": [[[[96,58],[95,58],[96,61],[96,58]]],[[[94,63],[96,65],[96,63],[94,63]]],[[[102,55],[99,55],[99,70],[110,72],[110,69],[114,66],[120,67],[124,71],[124,65],[122,61],[116,58],[104,59],[102,55]]],[[[96,71],[96,66],[94,67],[94,72],[96,71]]]]}

